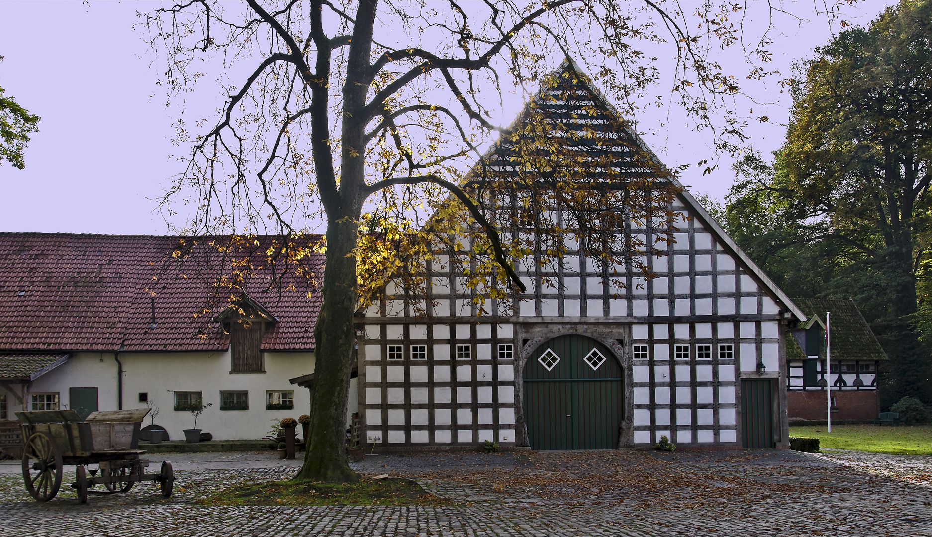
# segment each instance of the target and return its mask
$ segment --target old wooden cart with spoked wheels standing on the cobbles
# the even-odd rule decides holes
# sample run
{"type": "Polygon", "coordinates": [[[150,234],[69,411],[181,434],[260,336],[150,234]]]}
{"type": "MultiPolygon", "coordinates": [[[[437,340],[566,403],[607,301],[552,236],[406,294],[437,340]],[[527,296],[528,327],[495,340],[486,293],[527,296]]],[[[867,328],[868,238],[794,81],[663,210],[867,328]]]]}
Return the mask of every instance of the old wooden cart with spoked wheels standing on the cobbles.
{"type": "Polygon", "coordinates": [[[88,489],[103,485],[110,492],[126,492],[136,483],[158,483],[163,496],[171,496],[174,473],[162,462],[158,474],[146,474],[149,461],[140,459],[140,423],[148,408],[93,412],[81,420],[75,410],[17,412],[22,421],[22,478],[39,502],[48,502],[62,487],[62,467],[76,465],[75,483],[80,503],[88,502],[88,489]],[[89,470],[89,464],[97,469],[89,470]],[[98,475],[99,474],[99,475],[98,475]]]}

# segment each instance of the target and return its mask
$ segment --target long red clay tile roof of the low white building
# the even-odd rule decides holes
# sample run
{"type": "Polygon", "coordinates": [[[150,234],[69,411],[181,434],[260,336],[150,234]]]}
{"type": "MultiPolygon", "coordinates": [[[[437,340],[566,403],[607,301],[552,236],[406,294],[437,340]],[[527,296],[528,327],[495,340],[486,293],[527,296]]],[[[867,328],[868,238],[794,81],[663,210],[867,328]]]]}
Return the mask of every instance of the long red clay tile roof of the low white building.
{"type": "MultiPolygon", "coordinates": [[[[213,319],[229,304],[230,292],[212,284],[230,273],[229,264],[205,238],[185,261],[164,264],[183,239],[190,241],[0,233],[0,350],[226,350],[229,337],[213,319]]],[[[257,239],[256,244],[267,241],[257,239]]],[[[281,285],[273,283],[275,273],[262,268],[265,246],[253,249],[255,274],[242,288],[279,321],[264,335],[263,349],[313,349],[322,302],[316,285],[290,273],[281,285]]],[[[310,254],[304,263],[322,280],[322,254],[310,254]]]]}

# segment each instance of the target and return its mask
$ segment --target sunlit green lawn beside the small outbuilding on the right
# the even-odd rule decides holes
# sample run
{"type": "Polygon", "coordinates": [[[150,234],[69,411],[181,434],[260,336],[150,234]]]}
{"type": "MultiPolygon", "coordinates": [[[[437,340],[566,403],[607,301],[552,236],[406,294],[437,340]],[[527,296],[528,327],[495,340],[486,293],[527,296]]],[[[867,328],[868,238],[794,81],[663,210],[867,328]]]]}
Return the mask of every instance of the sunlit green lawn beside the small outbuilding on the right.
{"type": "Polygon", "coordinates": [[[789,427],[790,436],[819,439],[820,449],[852,449],[895,455],[932,455],[932,426],[825,425],[789,427]]]}

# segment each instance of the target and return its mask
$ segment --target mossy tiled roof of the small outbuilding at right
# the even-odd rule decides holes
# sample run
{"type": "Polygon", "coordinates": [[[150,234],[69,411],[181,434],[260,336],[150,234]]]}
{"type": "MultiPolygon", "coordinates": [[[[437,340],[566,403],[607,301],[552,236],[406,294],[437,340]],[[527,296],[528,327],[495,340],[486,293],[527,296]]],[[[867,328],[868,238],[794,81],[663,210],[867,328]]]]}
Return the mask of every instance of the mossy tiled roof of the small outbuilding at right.
{"type": "MultiPolygon", "coordinates": [[[[811,321],[815,316],[825,326],[825,313],[831,313],[831,360],[888,360],[886,352],[870,331],[870,325],[864,320],[854,300],[798,299],[795,300],[800,310],[811,321]]],[[[805,323],[808,324],[808,323],[805,323]]],[[[795,337],[787,338],[788,360],[802,360],[804,353],[795,337]],[[792,339],[792,341],[790,341],[792,339]],[[791,353],[791,347],[795,351],[791,353]],[[794,355],[798,358],[793,358],[794,355]]],[[[823,356],[824,357],[824,356],[823,356]]]]}

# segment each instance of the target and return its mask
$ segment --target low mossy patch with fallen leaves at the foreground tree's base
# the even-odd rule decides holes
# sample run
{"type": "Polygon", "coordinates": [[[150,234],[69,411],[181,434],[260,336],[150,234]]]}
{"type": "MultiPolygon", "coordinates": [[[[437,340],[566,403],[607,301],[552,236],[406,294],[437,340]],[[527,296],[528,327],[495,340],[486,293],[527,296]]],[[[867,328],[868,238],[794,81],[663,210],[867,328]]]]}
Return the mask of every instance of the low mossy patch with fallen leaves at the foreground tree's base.
{"type": "Polygon", "coordinates": [[[313,481],[271,481],[234,485],[202,498],[204,505],[449,505],[410,479],[333,485],[313,481]]]}

